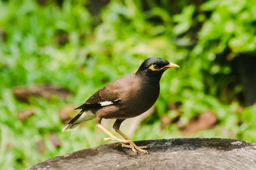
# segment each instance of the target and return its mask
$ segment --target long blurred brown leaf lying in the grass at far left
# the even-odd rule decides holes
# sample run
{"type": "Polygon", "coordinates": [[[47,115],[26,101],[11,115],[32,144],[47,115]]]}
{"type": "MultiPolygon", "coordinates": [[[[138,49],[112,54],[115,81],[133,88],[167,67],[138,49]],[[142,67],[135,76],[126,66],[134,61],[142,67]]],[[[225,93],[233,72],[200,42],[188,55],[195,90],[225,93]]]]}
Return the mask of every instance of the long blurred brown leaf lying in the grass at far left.
{"type": "Polygon", "coordinates": [[[13,95],[20,101],[28,103],[29,97],[44,97],[50,99],[52,95],[58,96],[60,99],[66,99],[71,94],[70,90],[64,88],[57,88],[51,84],[34,85],[31,88],[14,87],[13,95]]]}

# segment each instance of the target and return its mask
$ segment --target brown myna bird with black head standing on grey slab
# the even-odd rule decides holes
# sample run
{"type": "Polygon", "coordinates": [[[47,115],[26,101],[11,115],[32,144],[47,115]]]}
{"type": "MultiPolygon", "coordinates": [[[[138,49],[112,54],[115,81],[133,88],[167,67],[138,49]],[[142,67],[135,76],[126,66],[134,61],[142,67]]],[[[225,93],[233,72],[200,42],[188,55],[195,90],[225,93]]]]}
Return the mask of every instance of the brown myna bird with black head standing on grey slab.
{"type": "Polygon", "coordinates": [[[104,138],[104,141],[118,141],[122,147],[131,148],[135,153],[148,153],[145,150],[147,146],[137,146],[120,131],[120,125],[125,119],[141,115],[153,106],[159,96],[159,81],[162,74],[167,69],[175,67],[179,66],[161,57],[146,59],[136,73],[126,74],[112,81],[77,107],[75,110],[81,111],[68,122],[62,131],[76,129],[83,122],[95,118],[95,125],[109,136],[104,138]],[[113,129],[124,139],[118,138],[103,127],[100,124],[102,118],[116,119],[113,129]]]}

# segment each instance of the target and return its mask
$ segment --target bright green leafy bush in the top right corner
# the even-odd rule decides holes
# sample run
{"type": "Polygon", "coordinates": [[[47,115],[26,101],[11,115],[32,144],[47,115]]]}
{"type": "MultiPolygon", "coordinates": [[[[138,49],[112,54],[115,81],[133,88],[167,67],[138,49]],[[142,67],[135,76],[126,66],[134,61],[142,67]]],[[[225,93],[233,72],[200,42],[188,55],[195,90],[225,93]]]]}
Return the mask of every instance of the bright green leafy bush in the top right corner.
{"type": "Polygon", "coordinates": [[[202,43],[212,43],[214,53],[221,53],[230,48],[232,57],[237,53],[255,52],[255,1],[209,1],[202,6],[202,11],[212,11],[211,17],[200,31],[202,43]]]}

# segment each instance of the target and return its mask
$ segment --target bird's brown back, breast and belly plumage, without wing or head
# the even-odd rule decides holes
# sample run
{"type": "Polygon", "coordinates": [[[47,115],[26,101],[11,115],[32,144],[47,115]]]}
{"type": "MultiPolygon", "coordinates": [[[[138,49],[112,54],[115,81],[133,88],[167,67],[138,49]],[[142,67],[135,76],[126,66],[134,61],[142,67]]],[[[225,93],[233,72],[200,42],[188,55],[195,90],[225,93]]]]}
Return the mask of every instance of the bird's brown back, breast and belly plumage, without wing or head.
{"type": "Polygon", "coordinates": [[[98,117],[136,117],[147,111],[159,96],[159,83],[155,85],[143,84],[134,74],[128,74],[118,81],[113,81],[111,88],[113,87],[116,87],[113,92],[118,93],[120,102],[95,111],[98,117]]]}

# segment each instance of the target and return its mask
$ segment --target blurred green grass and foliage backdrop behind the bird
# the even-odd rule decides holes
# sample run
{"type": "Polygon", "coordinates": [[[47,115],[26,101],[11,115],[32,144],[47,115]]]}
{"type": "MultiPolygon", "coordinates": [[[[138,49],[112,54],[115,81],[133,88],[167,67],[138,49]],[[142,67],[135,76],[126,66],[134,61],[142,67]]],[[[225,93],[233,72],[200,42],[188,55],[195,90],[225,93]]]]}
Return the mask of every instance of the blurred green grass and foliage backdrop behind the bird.
{"type": "Polygon", "coordinates": [[[93,120],[61,129],[153,56],[180,69],[163,74],[152,109],[122,124],[133,140],[256,142],[255,0],[0,1],[0,169],[111,143],[93,120]]]}

